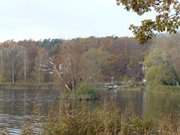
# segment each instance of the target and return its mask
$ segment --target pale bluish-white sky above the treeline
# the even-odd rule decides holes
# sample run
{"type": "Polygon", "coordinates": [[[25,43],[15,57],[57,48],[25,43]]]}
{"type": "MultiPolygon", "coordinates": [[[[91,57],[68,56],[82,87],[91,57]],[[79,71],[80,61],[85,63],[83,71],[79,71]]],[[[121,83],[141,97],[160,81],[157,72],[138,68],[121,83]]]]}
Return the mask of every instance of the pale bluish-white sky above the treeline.
{"type": "Polygon", "coordinates": [[[142,18],[116,0],[0,0],[0,41],[132,36],[142,18]]]}

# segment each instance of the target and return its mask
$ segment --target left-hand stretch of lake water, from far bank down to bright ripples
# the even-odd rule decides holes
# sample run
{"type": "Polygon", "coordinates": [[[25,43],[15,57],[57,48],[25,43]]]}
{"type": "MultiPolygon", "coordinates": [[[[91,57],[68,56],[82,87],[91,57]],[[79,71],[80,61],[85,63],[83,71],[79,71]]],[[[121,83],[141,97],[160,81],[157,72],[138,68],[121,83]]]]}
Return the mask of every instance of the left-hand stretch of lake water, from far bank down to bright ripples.
{"type": "Polygon", "coordinates": [[[38,115],[46,116],[58,95],[55,90],[0,90],[0,128],[19,134],[19,129],[35,113],[36,107],[38,115]]]}

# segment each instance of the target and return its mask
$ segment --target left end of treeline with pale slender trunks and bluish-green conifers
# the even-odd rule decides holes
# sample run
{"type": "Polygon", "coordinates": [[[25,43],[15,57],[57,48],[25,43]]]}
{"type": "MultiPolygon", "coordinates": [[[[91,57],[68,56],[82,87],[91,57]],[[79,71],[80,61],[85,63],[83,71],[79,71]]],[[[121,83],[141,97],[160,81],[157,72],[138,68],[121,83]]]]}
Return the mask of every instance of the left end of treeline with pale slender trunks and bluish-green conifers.
{"type": "Polygon", "coordinates": [[[49,56],[56,51],[62,40],[5,41],[0,45],[0,82],[52,82],[53,77],[43,72],[49,56]]]}

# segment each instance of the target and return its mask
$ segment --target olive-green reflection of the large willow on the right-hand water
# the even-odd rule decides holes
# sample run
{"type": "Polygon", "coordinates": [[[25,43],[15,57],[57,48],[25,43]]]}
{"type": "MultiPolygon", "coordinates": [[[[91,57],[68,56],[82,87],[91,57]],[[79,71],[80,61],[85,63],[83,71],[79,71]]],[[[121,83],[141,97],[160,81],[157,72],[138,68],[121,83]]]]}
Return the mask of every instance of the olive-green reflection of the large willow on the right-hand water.
{"type": "Polygon", "coordinates": [[[157,119],[175,115],[180,118],[180,92],[146,92],[145,117],[157,119]]]}

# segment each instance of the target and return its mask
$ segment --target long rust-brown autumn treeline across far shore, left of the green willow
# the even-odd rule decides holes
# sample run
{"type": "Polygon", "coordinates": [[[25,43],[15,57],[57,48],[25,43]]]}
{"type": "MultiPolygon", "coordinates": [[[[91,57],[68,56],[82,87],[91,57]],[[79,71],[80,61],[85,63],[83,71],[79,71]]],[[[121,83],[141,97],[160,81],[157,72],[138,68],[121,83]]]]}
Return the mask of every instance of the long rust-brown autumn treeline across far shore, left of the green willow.
{"type": "Polygon", "coordinates": [[[58,81],[71,87],[82,81],[141,81],[148,48],[127,37],[6,41],[0,45],[0,82],[54,82],[50,59],[60,73],[58,81]]]}

